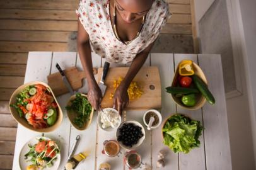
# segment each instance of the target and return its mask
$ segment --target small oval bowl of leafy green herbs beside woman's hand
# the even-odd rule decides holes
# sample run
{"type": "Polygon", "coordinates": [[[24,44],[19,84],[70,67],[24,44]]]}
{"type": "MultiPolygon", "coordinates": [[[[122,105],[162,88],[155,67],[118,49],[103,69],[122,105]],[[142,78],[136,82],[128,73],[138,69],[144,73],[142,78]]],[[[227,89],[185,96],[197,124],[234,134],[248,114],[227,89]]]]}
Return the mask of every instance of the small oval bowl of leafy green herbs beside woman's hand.
{"type": "Polygon", "coordinates": [[[85,130],[91,124],[93,107],[85,94],[76,93],[71,96],[66,106],[67,116],[71,124],[78,130],[85,130]]]}

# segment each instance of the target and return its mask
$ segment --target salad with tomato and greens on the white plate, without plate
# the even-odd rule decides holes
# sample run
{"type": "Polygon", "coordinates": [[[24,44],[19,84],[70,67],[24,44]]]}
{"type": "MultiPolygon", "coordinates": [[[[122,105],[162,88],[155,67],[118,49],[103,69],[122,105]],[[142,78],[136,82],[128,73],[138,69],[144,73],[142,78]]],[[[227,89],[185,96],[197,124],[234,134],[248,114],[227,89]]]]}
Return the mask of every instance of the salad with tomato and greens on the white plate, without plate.
{"type": "Polygon", "coordinates": [[[25,154],[25,159],[32,164],[26,169],[52,167],[60,154],[60,149],[54,141],[43,138],[38,139],[35,145],[28,144],[28,147],[30,150],[25,154]]]}

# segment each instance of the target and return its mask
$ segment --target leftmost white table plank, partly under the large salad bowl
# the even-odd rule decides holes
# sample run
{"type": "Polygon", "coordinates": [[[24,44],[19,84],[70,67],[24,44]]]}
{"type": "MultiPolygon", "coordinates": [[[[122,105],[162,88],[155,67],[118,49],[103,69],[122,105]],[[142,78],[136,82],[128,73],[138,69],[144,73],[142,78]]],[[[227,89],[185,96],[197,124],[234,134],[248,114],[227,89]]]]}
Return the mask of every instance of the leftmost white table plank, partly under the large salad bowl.
{"type": "MultiPolygon", "coordinates": [[[[50,65],[52,62],[52,52],[30,52],[28,54],[28,64],[26,65],[25,81],[43,81],[47,82],[47,75],[50,74],[50,65]],[[35,65],[35,63],[40,63],[35,65]]],[[[18,125],[16,143],[15,143],[15,156],[13,159],[13,168],[20,169],[19,166],[19,154],[23,145],[32,137],[37,137],[42,133],[33,132],[21,125],[18,125]]]]}

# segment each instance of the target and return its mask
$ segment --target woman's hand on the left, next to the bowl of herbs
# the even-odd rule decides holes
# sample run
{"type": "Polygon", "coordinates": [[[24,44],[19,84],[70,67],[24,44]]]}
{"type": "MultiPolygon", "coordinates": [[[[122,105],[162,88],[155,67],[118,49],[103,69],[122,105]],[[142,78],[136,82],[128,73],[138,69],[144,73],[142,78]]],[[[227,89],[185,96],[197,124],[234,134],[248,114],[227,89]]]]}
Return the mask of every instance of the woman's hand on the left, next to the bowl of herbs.
{"type": "Polygon", "coordinates": [[[95,110],[98,110],[100,103],[102,102],[102,91],[96,82],[89,86],[87,96],[91,106],[93,106],[95,110]]]}

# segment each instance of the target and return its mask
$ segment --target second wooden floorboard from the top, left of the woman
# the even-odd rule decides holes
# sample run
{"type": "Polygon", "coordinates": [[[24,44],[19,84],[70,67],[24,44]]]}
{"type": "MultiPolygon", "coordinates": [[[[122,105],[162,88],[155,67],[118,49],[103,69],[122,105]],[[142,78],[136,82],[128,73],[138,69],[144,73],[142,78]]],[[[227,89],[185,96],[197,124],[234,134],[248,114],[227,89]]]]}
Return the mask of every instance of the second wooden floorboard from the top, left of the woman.
{"type": "MultiPolygon", "coordinates": [[[[182,9],[180,9],[182,10],[182,9]]],[[[184,9],[183,9],[184,10],[184,9]]],[[[53,9],[1,9],[0,19],[77,20],[74,10],[53,9]]]]}

